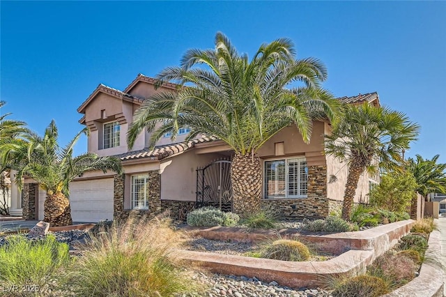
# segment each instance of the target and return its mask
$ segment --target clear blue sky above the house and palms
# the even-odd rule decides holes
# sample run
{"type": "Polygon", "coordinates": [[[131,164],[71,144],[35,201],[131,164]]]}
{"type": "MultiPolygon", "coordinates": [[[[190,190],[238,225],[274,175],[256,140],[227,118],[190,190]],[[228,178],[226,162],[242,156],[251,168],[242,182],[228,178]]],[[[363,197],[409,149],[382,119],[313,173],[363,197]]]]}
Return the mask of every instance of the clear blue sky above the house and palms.
{"type": "MultiPolygon", "coordinates": [[[[55,119],[66,144],[76,109],[98,84],[125,89],[138,73],[178,65],[217,31],[239,52],[291,38],[298,57],[328,67],[336,96],[378,91],[422,125],[408,155],[446,162],[445,1],[0,1],[1,114],[43,133],[55,119]]],[[[86,151],[86,138],[76,153],[86,151]]]]}

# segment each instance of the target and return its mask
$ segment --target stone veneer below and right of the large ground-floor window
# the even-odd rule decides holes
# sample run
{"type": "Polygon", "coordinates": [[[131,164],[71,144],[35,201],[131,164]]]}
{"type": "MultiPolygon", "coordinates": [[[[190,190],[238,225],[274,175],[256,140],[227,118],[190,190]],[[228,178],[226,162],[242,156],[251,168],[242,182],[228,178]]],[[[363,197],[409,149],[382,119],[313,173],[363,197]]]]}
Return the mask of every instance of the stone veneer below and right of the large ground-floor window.
{"type": "Polygon", "coordinates": [[[263,199],[262,208],[277,213],[282,219],[326,218],[329,209],[327,166],[308,167],[307,198],[263,199]]]}

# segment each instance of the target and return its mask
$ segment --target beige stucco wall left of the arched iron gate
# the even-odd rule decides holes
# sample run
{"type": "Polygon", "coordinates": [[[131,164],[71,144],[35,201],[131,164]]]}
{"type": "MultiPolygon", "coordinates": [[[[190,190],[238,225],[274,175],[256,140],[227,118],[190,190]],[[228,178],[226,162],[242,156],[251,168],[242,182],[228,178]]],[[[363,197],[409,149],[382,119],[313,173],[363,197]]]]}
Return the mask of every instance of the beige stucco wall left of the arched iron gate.
{"type": "MultiPolygon", "coordinates": [[[[195,201],[197,196],[197,167],[217,160],[217,153],[197,155],[188,151],[175,158],[164,160],[161,174],[161,199],[195,201]]],[[[220,157],[221,158],[221,157],[220,157]]]]}

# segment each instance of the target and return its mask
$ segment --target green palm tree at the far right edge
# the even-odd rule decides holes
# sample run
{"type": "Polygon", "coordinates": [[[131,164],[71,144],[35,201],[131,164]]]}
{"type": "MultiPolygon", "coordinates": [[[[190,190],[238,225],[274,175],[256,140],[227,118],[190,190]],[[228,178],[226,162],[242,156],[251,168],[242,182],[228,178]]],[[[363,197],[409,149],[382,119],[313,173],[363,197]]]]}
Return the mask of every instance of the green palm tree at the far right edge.
{"type": "Polygon", "coordinates": [[[430,193],[446,194],[446,164],[437,164],[440,155],[435,155],[432,160],[423,159],[421,155],[415,155],[415,158],[408,158],[406,169],[415,176],[417,192],[425,201],[430,193]]]}

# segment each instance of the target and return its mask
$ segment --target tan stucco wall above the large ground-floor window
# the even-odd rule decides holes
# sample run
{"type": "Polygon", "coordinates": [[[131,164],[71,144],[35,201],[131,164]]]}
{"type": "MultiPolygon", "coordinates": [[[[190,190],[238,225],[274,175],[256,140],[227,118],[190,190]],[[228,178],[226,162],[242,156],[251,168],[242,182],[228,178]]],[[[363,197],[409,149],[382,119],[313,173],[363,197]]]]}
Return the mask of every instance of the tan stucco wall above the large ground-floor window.
{"type": "Polygon", "coordinates": [[[257,155],[262,159],[302,155],[307,159],[308,166],[325,165],[325,157],[323,156],[323,134],[324,123],[314,121],[312,137],[309,144],[306,144],[298,128],[295,125],[289,125],[271,137],[257,151],[257,155]],[[275,154],[275,144],[278,142],[284,142],[284,155],[275,154]]]}

